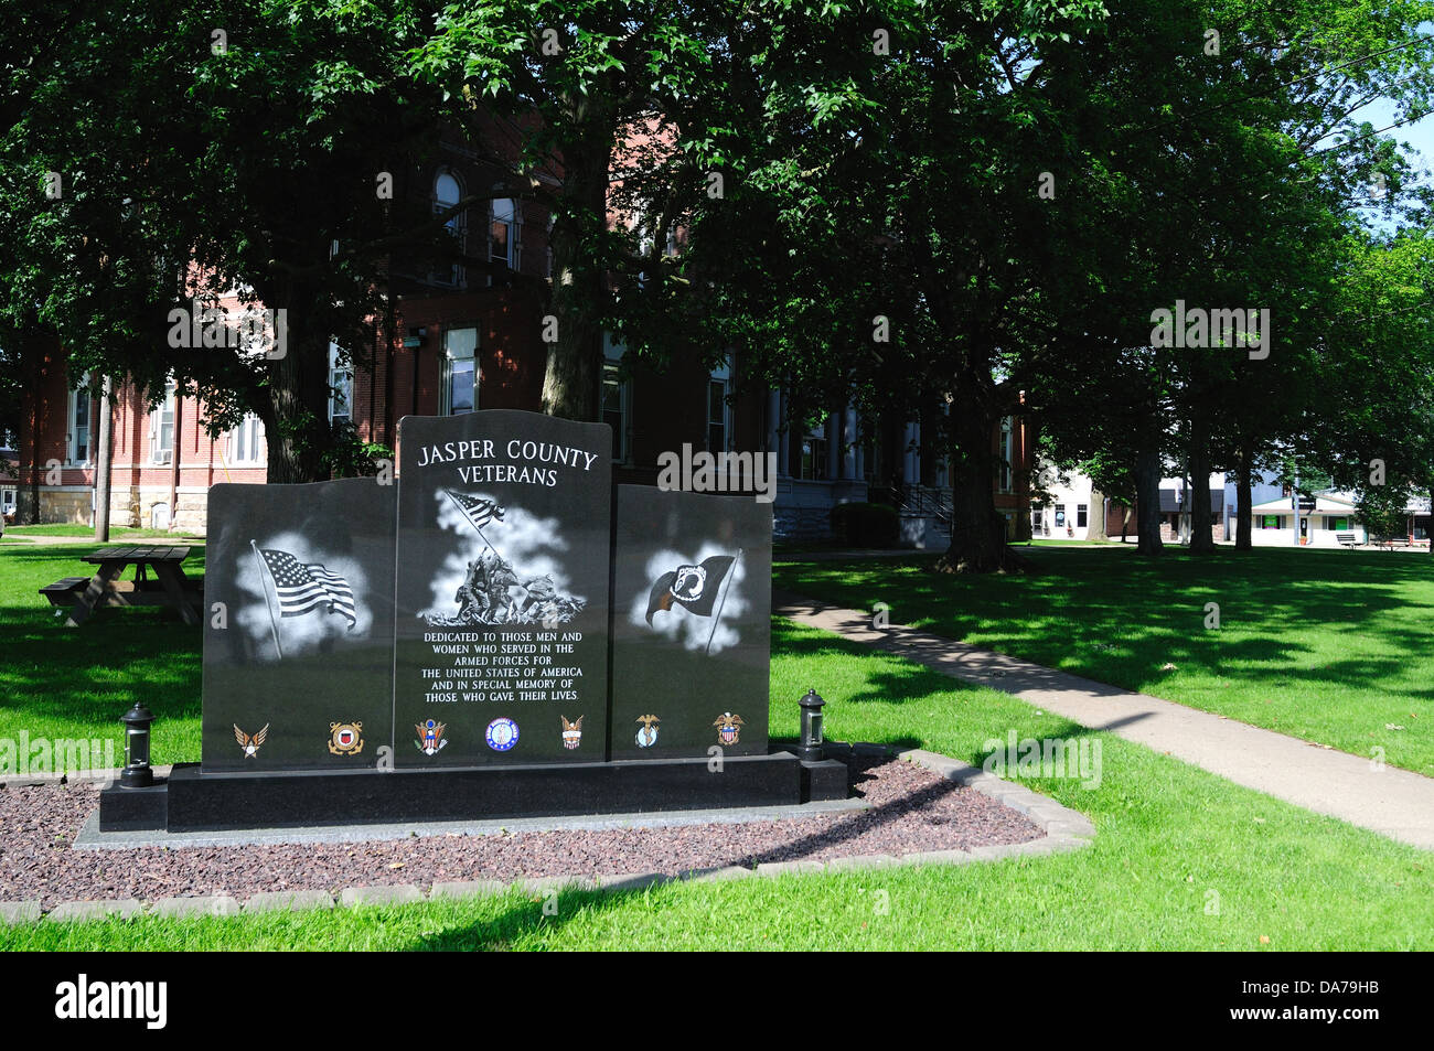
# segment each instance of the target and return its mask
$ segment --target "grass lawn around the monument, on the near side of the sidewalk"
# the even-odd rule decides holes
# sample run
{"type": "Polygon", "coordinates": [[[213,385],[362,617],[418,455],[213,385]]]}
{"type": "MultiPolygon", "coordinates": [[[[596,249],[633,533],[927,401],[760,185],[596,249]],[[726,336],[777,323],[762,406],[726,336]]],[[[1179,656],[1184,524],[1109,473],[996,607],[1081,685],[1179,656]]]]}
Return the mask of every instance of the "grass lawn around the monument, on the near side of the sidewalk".
{"type": "MultiPolygon", "coordinates": [[[[139,609],[100,611],[92,624],[66,629],[40,605],[34,588],[76,574],[82,549],[0,555],[0,736],[19,728],[54,734],[56,727],[92,736],[142,697],[161,717],[156,760],[198,758],[196,628],[139,609]]],[[[809,685],[827,698],[827,733],[837,740],[921,746],[981,761],[984,741],[1008,730],[1038,738],[1090,734],[1007,694],[774,621],[774,737],[796,736],[796,700],[809,685]]],[[[541,900],[509,893],[234,919],[46,922],[0,928],[0,948],[1434,948],[1434,853],[1137,744],[1093,737],[1103,748],[1098,787],[1028,781],[1096,823],[1094,846],[1071,855],[680,883],[644,893],[572,892],[556,916],[543,916],[541,900]],[[889,910],[873,906],[882,898],[876,890],[886,892],[889,910]]]]}

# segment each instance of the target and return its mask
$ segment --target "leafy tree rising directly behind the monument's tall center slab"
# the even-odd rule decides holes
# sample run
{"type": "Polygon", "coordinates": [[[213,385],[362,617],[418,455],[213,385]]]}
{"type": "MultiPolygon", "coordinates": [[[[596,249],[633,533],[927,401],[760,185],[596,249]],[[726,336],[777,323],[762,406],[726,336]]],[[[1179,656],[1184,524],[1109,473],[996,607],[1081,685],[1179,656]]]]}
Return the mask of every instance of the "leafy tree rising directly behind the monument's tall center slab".
{"type": "Polygon", "coordinates": [[[665,354],[721,353],[673,324],[691,278],[670,247],[721,173],[716,125],[751,17],[720,0],[472,0],[447,6],[414,52],[470,139],[492,141],[496,115],[518,143],[495,192],[554,217],[545,412],[597,417],[604,331],[640,351],[663,333],[665,354]]]}

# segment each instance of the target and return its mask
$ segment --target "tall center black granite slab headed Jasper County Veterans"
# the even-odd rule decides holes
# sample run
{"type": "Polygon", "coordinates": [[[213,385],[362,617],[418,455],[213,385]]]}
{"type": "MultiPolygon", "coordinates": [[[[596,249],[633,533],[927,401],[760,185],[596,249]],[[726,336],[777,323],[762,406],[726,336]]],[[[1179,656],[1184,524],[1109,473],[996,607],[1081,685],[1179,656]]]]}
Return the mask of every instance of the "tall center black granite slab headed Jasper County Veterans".
{"type": "Polygon", "coordinates": [[[607,758],[612,430],[399,423],[396,761],[607,758]]]}

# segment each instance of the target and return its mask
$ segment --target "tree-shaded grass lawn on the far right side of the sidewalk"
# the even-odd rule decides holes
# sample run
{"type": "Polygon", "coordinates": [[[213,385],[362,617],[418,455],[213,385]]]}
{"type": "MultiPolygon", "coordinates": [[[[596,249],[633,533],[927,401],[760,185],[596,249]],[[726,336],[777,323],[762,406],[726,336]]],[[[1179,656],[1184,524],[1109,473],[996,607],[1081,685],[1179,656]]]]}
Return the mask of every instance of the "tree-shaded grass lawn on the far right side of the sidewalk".
{"type": "Polygon", "coordinates": [[[1101,683],[1434,776],[1434,562],[1390,552],[1022,552],[958,578],[932,556],[782,563],[774,584],[1101,683]],[[1206,628],[1206,604],[1219,629],[1206,628]],[[1162,670],[1173,664],[1173,670],[1162,670]]]}

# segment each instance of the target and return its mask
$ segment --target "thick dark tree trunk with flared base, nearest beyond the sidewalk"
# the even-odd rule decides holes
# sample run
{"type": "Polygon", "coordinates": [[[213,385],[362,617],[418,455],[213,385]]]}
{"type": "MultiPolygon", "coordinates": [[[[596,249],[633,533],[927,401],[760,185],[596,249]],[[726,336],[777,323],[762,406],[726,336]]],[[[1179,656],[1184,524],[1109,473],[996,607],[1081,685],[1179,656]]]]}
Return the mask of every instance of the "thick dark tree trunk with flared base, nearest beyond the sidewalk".
{"type": "MultiPolygon", "coordinates": [[[[987,381],[989,386],[989,381],[987,381]]],[[[994,391],[969,384],[974,397],[956,397],[951,410],[951,546],[936,562],[944,574],[992,574],[1024,568],[1007,546],[1005,519],[995,509],[995,449],[999,413],[994,391]]]]}

